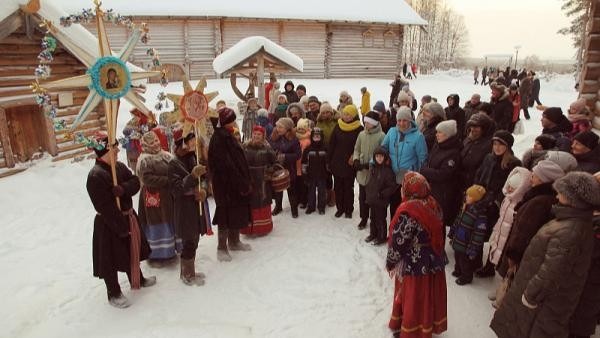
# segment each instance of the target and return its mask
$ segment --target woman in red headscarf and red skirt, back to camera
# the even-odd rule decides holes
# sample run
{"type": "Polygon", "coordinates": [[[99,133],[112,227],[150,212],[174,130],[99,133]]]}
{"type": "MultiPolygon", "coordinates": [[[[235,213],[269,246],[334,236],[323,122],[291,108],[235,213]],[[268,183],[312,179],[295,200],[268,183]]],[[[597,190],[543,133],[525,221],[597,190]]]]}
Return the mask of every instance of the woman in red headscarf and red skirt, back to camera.
{"type": "Polygon", "coordinates": [[[389,327],[395,337],[425,338],[447,330],[442,211],[424,176],[408,172],[390,223],[386,268],[395,281],[389,327]]]}

